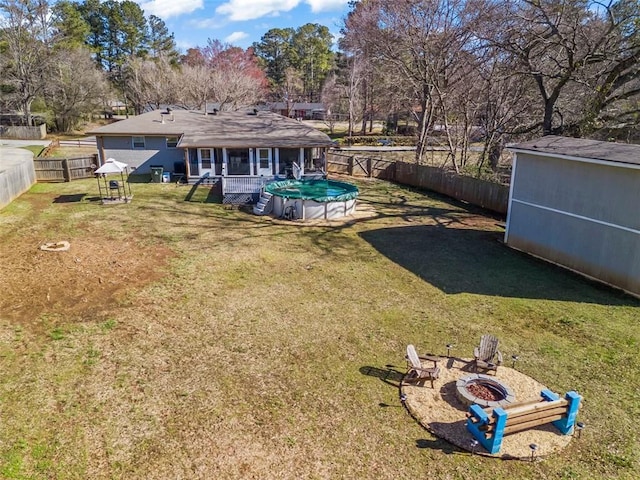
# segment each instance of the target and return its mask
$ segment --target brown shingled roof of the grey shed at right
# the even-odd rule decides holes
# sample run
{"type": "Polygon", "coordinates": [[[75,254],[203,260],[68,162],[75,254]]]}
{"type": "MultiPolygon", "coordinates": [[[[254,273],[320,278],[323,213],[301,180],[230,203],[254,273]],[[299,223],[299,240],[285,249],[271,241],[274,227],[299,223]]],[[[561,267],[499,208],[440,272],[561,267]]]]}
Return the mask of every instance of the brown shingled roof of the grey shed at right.
{"type": "Polygon", "coordinates": [[[512,151],[640,165],[640,145],[548,135],[509,146],[512,151]]]}

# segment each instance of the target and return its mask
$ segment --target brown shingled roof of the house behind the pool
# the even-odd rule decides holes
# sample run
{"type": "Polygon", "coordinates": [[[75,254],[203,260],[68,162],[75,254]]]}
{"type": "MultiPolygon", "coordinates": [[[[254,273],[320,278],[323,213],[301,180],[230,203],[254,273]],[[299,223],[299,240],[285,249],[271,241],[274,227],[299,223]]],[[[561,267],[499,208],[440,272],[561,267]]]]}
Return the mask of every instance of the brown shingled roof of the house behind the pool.
{"type": "Polygon", "coordinates": [[[143,113],[90,132],[103,136],[182,136],[178,147],[327,147],[329,136],[304,123],[271,112],[160,110],[143,113]]]}

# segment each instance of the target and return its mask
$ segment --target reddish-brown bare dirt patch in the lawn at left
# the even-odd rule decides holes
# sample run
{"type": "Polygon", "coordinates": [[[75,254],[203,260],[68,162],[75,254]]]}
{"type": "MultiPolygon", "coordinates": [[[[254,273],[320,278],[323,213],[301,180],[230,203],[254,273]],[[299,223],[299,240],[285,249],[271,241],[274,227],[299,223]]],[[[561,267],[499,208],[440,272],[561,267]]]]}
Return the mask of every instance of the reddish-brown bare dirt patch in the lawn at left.
{"type": "MultiPolygon", "coordinates": [[[[57,239],[53,239],[57,241],[57,239]]],[[[39,316],[82,321],[162,276],[172,252],[135,240],[70,238],[68,251],[42,251],[41,238],[5,240],[0,249],[0,311],[23,324],[39,316]]]]}

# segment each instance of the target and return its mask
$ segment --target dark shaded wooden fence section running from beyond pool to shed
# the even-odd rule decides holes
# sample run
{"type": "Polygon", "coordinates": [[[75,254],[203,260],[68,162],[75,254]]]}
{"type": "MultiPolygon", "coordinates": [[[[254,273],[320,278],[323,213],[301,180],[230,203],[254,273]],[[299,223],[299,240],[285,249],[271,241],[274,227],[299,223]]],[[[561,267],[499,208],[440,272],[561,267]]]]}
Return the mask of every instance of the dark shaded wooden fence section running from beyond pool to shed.
{"type": "Polygon", "coordinates": [[[396,163],[396,181],[413,187],[428,188],[443,195],[506,214],[509,186],[465,177],[438,167],[396,163]]]}

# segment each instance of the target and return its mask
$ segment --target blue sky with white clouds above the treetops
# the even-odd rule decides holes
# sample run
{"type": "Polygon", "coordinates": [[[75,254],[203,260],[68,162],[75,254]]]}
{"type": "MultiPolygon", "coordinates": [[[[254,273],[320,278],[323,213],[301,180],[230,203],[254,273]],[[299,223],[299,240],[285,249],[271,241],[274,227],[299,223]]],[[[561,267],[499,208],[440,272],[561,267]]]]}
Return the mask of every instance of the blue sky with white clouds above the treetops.
{"type": "Polygon", "coordinates": [[[349,0],[139,0],[164,20],[182,52],[207,39],[247,48],[272,28],[319,23],[337,36],[349,0]]]}

